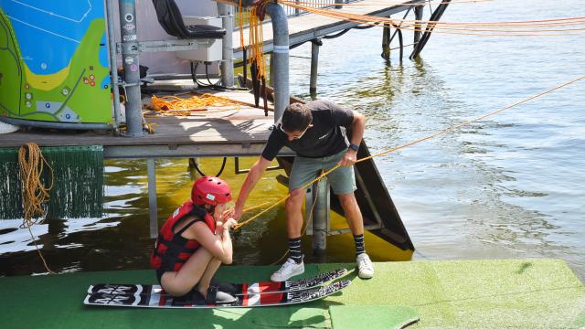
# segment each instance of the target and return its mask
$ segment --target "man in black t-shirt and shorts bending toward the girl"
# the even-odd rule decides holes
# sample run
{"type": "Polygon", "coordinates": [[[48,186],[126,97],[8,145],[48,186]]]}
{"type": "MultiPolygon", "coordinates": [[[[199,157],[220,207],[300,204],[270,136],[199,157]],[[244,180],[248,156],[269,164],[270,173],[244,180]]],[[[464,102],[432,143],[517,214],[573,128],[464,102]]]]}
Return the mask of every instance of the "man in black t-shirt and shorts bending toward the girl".
{"type": "Polygon", "coordinates": [[[335,195],[339,197],[347,223],[354,235],[359,277],[369,279],[374,276],[374,266],[364,248],[364,222],[354,195],[356,176],[353,165],[356,164],[357,150],[365,126],[366,117],[362,114],[340,107],[331,101],[293,103],[286,108],[282,119],[274,125],[260,158],[250,168],[239,190],[233,214],[228,215],[233,215],[236,220],[241,218],[250,191],[283,146],[288,146],[297,154],[289,177],[291,196],[285,203],[289,259],[279,271],[272,274],[272,281],[286,281],[294,275],[303,273],[301,229],[306,190],[302,187],[311,182],[321,170],[326,171],[336,164],[341,166],[327,175],[327,179],[335,195]],[[351,141],[347,139],[347,129],[352,132],[351,141]]]}

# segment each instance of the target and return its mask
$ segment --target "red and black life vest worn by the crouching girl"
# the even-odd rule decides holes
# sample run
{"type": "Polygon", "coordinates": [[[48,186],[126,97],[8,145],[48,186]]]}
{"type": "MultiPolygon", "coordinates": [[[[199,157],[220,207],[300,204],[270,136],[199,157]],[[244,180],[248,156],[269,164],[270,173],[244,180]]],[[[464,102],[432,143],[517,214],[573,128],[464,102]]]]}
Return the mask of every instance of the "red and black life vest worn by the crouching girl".
{"type": "MultiPolygon", "coordinates": [[[[166,219],[154,243],[153,254],[150,258],[150,266],[152,268],[160,271],[179,271],[186,260],[200,247],[197,240],[181,237],[181,234],[187,228],[190,228],[191,225],[201,220],[200,217],[187,223],[185,227],[176,233],[174,232],[177,222],[188,215],[194,215],[192,210],[195,207],[193,201],[188,200],[166,219]]],[[[216,231],[216,222],[207,211],[204,216],[204,221],[211,232],[216,231]]]]}

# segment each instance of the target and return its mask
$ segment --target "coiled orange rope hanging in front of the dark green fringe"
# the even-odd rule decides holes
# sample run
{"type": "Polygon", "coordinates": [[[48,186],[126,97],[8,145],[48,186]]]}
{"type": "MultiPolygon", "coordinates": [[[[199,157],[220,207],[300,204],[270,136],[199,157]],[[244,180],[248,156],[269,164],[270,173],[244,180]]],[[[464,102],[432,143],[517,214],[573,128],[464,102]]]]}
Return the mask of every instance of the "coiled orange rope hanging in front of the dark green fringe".
{"type": "Polygon", "coordinates": [[[47,209],[44,205],[48,201],[48,191],[53,188],[53,169],[47,160],[45,160],[36,143],[26,143],[18,149],[18,165],[20,167],[24,208],[24,218],[20,228],[28,228],[30,237],[35,244],[38,256],[43,260],[45,269],[49,273],[56,274],[48,268],[47,261],[40,252],[40,249],[38,249],[37,241],[35,240],[32,229],[30,229],[35,224],[42,224],[47,215],[47,209]],[[48,187],[45,187],[40,179],[41,175],[43,175],[45,164],[47,164],[51,173],[51,185],[48,187]]]}

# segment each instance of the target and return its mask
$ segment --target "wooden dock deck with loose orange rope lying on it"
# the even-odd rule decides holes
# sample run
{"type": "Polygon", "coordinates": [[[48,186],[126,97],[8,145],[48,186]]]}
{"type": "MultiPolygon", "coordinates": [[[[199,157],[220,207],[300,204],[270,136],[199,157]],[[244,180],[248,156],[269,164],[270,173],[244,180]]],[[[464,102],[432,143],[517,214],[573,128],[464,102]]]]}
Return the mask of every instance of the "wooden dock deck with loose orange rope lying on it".
{"type": "MultiPolygon", "coordinates": [[[[265,116],[262,108],[254,107],[254,97],[247,91],[205,92],[229,98],[235,101],[234,106],[192,111],[189,116],[147,115],[145,120],[154,133],[142,137],[120,137],[103,131],[33,129],[2,135],[0,147],[19,147],[29,142],[39,146],[103,145],[105,158],[261,154],[274,122],[272,111],[265,116]]],[[[292,155],[290,151],[288,154],[292,155]]]]}

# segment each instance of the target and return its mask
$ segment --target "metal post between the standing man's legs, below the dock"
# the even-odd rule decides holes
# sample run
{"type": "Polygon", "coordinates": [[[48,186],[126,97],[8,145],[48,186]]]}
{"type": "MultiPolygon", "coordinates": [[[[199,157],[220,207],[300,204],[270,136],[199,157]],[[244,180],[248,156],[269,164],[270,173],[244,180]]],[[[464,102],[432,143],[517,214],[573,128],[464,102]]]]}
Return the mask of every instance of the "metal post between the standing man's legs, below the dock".
{"type": "MultiPolygon", "coordinates": [[[[327,249],[327,231],[329,230],[329,184],[324,177],[312,187],[313,202],[313,254],[324,255],[327,249]]],[[[307,206],[309,207],[309,206],[307,206]]]]}

